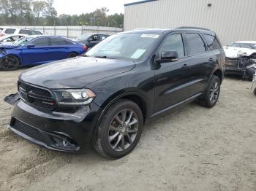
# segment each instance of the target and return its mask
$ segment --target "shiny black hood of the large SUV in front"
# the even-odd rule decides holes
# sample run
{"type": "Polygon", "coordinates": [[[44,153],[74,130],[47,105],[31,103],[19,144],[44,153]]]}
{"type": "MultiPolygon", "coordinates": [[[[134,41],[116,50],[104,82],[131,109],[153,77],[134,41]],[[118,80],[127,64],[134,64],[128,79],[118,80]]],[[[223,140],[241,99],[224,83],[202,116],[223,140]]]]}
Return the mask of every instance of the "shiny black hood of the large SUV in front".
{"type": "Polygon", "coordinates": [[[78,56],[34,67],[20,74],[20,79],[50,89],[81,88],[134,67],[133,61],[78,56]]]}

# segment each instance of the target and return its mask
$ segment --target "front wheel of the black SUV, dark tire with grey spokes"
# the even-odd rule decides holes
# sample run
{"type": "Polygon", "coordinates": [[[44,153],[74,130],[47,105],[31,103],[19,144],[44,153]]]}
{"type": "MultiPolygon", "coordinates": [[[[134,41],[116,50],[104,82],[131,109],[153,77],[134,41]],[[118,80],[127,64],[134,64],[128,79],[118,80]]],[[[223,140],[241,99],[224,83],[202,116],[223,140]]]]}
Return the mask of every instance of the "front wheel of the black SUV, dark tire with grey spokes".
{"type": "Polygon", "coordinates": [[[124,157],[138,144],[142,130],[140,107],[132,101],[120,99],[100,120],[94,149],[105,157],[124,157]]]}

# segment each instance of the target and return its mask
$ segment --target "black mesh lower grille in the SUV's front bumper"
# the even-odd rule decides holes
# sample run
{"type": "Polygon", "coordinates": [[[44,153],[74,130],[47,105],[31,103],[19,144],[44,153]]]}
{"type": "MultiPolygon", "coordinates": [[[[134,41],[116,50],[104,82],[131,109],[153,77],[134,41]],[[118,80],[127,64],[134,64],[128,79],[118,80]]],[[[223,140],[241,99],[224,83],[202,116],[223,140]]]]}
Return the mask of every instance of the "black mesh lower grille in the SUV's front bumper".
{"type": "Polygon", "coordinates": [[[44,139],[42,137],[42,133],[38,129],[32,128],[31,126],[26,125],[25,123],[20,122],[19,120],[15,119],[15,118],[13,118],[13,120],[12,120],[12,128],[20,131],[20,133],[23,133],[33,139],[36,139],[41,142],[44,141],[44,139]]]}

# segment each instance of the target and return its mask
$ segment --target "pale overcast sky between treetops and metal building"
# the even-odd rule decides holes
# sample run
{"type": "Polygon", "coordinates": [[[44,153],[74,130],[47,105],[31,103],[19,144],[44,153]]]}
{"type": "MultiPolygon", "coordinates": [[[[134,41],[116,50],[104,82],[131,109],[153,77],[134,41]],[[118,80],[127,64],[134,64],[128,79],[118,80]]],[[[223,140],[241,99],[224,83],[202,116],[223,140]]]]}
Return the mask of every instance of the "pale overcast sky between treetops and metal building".
{"type": "Polygon", "coordinates": [[[58,15],[80,15],[82,13],[93,12],[100,7],[109,9],[108,15],[114,13],[124,13],[124,4],[140,0],[54,0],[53,7],[58,15]]]}

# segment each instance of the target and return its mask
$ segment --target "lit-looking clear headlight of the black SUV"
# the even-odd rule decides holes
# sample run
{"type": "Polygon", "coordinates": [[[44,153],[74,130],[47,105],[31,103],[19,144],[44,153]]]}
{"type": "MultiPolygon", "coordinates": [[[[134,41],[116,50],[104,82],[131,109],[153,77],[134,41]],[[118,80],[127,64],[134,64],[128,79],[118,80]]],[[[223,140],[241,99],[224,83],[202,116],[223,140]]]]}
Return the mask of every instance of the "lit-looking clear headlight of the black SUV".
{"type": "Polygon", "coordinates": [[[71,106],[91,104],[96,96],[94,92],[89,89],[53,90],[53,93],[56,95],[59,105],[71,106]]]}

